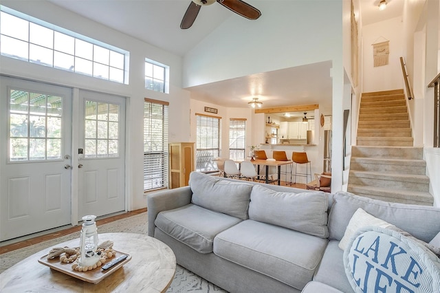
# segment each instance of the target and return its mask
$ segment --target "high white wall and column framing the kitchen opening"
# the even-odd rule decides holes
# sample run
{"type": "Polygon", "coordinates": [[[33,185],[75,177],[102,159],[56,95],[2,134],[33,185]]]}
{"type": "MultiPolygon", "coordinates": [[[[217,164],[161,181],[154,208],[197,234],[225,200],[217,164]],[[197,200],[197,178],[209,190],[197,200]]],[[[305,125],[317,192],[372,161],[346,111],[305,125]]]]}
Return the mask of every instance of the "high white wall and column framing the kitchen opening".
{"type": "MultiPolygon", "coordinates": [[[[332,187],[342,188],[342,0],[256,1],[263,16],[246,22],[231,17],[184,56],[184,87],[276,69],[332,61],[332,187]],[[282,8],[282,9],[280,9],[282,8]],[[313,19],[311,19],[313,15],[313,19]],[[206,66],[208,65],[208,66],[206,66]]],[[[252,142],[263,138],[262,114],[254,115],[252,142]],[[261,133],[260,133],[261,132],[261,133]]]]}

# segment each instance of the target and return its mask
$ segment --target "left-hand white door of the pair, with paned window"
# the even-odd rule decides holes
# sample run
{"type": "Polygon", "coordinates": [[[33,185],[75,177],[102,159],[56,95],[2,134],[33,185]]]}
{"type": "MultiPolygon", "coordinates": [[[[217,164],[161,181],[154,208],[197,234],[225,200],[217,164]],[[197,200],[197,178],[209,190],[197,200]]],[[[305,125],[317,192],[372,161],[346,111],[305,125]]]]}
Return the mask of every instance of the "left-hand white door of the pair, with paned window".
{"type": "Polygon", "coordinates": [[[71,222],[72,89],[0,76],[0,241],[71,222]]]}

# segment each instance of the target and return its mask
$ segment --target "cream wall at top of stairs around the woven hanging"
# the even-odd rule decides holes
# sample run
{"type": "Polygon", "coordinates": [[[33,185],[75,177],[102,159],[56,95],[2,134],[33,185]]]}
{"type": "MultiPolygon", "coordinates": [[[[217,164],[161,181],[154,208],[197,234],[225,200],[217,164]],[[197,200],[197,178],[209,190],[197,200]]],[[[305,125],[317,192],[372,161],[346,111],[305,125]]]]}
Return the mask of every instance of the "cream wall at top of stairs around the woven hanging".
{"type": "Polygon", "coordinates": [[[362,91],[403,89],[400,57],[403,56],[404,39],[401,17],[364,25],[362,28],[362,91]],[[373,44],[389,41],[388,65],[374,67],[373,44]]]}

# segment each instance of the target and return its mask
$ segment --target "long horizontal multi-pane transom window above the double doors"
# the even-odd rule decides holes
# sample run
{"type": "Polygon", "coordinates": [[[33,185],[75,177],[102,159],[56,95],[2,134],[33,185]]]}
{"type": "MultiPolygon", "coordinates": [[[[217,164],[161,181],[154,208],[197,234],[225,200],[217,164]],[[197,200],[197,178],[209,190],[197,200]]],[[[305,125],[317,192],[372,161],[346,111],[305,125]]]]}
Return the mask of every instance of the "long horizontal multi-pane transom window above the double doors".
{"type": "Polygon", "coordinates": [[[0,14],[1,55],[124,83],[128,52],[5,6],[0,14]]]}

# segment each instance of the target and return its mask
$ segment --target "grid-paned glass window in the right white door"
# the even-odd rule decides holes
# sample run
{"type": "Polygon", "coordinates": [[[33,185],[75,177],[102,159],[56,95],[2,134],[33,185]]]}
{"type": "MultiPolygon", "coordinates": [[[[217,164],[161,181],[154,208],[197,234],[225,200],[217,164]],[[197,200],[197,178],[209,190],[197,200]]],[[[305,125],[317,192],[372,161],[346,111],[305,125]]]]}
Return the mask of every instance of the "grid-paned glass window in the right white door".
{"type": "Polygon", "coordinates": [[[85,158],[119,156],[119,105],[85,101],[85,158]]]}

